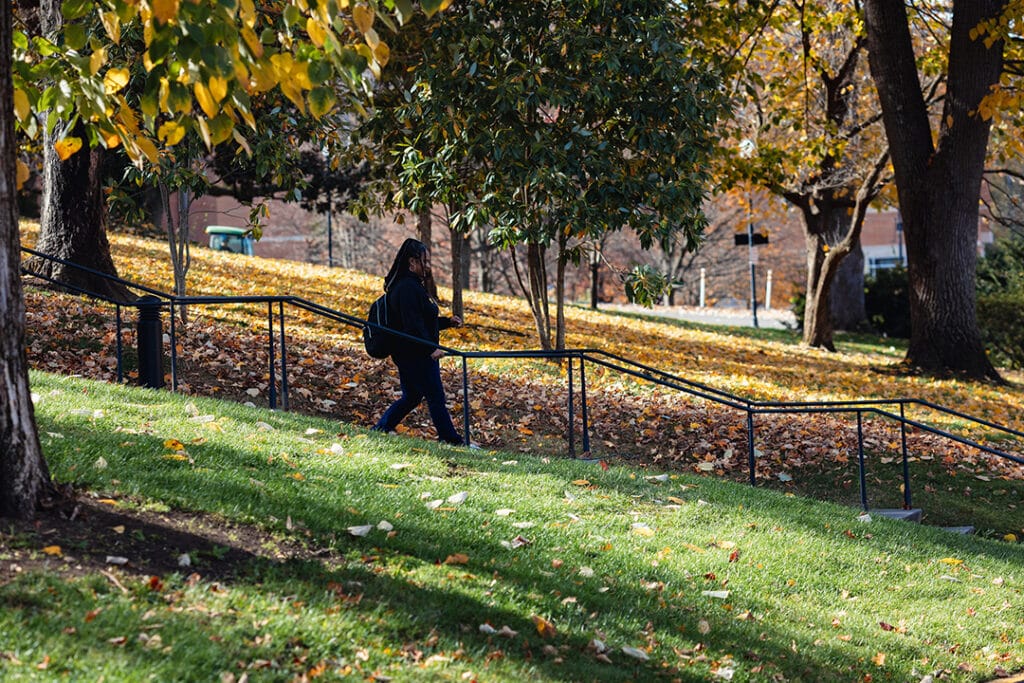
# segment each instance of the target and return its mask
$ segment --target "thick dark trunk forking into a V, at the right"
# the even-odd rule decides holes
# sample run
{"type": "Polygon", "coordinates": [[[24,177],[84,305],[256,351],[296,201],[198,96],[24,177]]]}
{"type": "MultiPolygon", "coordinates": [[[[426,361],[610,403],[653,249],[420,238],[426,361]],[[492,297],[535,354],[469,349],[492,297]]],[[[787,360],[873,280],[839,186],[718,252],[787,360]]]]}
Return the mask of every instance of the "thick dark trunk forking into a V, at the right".
{"type": "Polygon", "coordinates": [[[985,353],[975,309],[981,175],[989,121],[981,99],[998,82],[1002,42],[971,33],[1006,0],[953,2],[947,90],[932,142],[902,2],[866,0],[871,76],[892,150],[907,248],[910,344],[905,362],[932,373],[999,376],[985,353]]]}

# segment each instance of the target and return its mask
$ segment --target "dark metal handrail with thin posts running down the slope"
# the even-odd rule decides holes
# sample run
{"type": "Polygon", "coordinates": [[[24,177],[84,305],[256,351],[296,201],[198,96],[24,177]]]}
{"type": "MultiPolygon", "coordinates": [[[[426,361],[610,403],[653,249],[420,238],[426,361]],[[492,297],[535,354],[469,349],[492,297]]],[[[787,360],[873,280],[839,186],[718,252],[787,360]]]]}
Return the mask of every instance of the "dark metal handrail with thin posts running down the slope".
{"type": "MultiPolygon", "coordinates": [[[[605,368],[614,372],[623,373],[625,375],[635,377],[637,379],[645,380],[651,382],[658,386],[664,386],[666,388],[674,389],[677,391],[684,392],[696,398],[712,401],[714,403],[731,408],[734,410],[741,411],[745,413],[746,416],[746,431],[748,431],[748,464],[750,468],[750,482],[751,484],[757,483],[756,477],[756,449],[755,449],[755,424],[754,417],[757,415],[771,415],[771,414],[853,414],[857,418],[857,436],[858,436],[858,467],[859,467],[859,478],[860,478],[860,497],[861,505],[864,510],[867,510],[867,494],[866,494],[866,482],[865,482],[865,464],[864,464],[864,438],[862,429],[862,419],[863,415],[873,414],[879,417],[887,418],[893,420],[900,425],[901,430],[901,452],[903,461],[903,492],[904,492],[904,507],[909,508],[911,505],[910,497],[910,480],[909,480],[909,469],[908,469],[908,447],[907,447],[907,427],[912,427],[920,429],[922,431],[935,434],[937,436],[950,439],[963,445],[967,445],[973,449],[977,449],[983,453],[993,455],[1011,462],[1024,465],[1024,458],[1000,451],[998,449],[993,449],[983,443],[979,443],[973,439],[966,438],[954,434],[952,432],[940,429],[938,427],[929,425],[927,423],[921,422],[919,420],[912,420],[906,416],[906,409],[910,405],[918,405],[926,408],[933,412],[939,413],[940,415],[952,416],[972,422],[976,425],[981,425],[989,429],[993,429],[1005,434],[1012,435],[1017,438],[1024,437],[1024,431],[1016,430],[1005,425],[999,425],[997,423],[984,420],[982,418],[977,418],[970,414],[956,411],[953,409],[934,403],[932,401],[920,399],[920,398],[877,398],[877,399],[855,399],[855,400],[817,400],[817,401],[760,401],[756,399],[746,398],[743,396],[736,395],[734,393],[718,389],[716,387],[709,386],[699,382],[694,382],[687,380],[685,378],[673,375],[666,371],[647,366],[630,358],[626,358],[622,355],[605,351],[603,349],[563,349],[563,350],[517,350],[517,351],[463,351],[461,349],[456,349],[447,347],[438,343],[431,342],[429,340],[420,339],[413,335],[407,333],[391,330],[389,328],[369,323],[361,317],[351,315],[349,313],[344,313],[332,309],[323,304],[309,301],[307,299],[291,296],[291,295],[248,295],[248,296],[176,296],[172,294],[167,294],[153,288],[137,285],[129,281],[123,280],[121,278],[116,278],[109,273],[103,273],[86,266],[76,264],[71,261],[55,258],[43,254],[41,252],[29,249],[27,247],[22,248],[26,253],[38,256],[41,258],[49,259],[63,265],[79,268],[83,271],[89,272],[99,278],[106,279],[112,282],[116,282],[123,285],[126,288],[138,290],[145,292],[152,296],[158,297],[163,301],[160,302],[161,306],[168,306],[171,310],[171,388],[172,390],[177,390],[177,357],[176,357],[176,330],[174,324],[174,309],[176,306],[187,306],[187,305],[222,305],[222,304],[240,304],[240,303],[265,303],[267,305],[267,328],[268,328],[268,357],[269,357],[269,402],[270,409],[276,409],[276,379],[275,379],[275,347],[274,347],[274,304],[276,304],[278,312],[276,318],[280,322],[280,352],[281,352],[281,376],[282,376],[282,399],[284,410],[288,410],[288,369],[287,369],[287,350],[285,346],[285,305],[295,306],[296,308],[305,310],[307,312],[313,313],[314,315],[319,315],[333,319],[337,323],[347,325],[349,327],[365,328],[370,327],[380,331],[387,332],[395,337],[406,339],[408,341],[413,341],[425,346],[430,346],[436,349],[444,351],[445,354],[460,357],[462,359],[462,375],[463,375],[463,422],[465,431],[465,442],[468,445],[470,443],[471,434],[471,420],[469,412],[469,370],[468,362],[471,359],[477,358],[537,358],[537,359],[548,359],[548,360],[567,360],[568,361],[568,372],[567,372],[567,382],[568,382],[568,404],[567,404],[567,440],[569,446],[569,455],[575,457],[574,450],[574,373],[575,362],[579,360],[580,368],[580,391],[581,391],[581,413],[582,413],[582,436],[583,436],[583,455],[584,457],[591,457],[590,449],[590,434],[589,434],[589,411],[587,403],[587,380],[586,380],[586,365],[590,362],[594,366],[605,368]],[[890,410],[891,407],[898,407],[899,414],[897,415],[890,410]]],[[[110,297],[89,292],[83,288],[68,285],[62,282],[47,278],[40,273],[36,273],[27,270],[23,267],[23,272],[35,278],[40,278],[42,280],[48,281],[53,285],[63,287],[75,291],[79,294],[84,294],[108,303],[112,303],[117,307],[117,325],[118,325],[118,381],[123,381],[122,375],[122,357],[121,357],[121,307],[125,305],[135,305],[131,303],[125,303],[121,301],[116,301],[110,297]]]]}

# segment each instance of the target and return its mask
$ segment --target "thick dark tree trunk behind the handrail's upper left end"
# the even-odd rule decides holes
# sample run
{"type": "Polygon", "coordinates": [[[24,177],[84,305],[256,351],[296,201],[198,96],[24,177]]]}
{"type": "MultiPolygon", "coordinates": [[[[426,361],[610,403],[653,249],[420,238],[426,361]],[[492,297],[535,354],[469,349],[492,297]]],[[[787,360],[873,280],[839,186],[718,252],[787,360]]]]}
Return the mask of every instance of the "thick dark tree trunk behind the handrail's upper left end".
{"type": "MultiPolygon", "coordinates": [[[[43,35],[56,35],[63,23],[60,3],[42,0],[40,16],[43,35]]],[[[58,123],[51,133],[43,135],[43,209],[35,248],[49,256],[117,275],[103,224],[102,152],[83,147],[61,161],[53,143],[66,134],[86,140],[80,126],[69,130],[65,123],[58,123]]],[[[135,298],[124,286],[79,268],[41,258],[30,259],[26,266],[34,272],[117,301],[135,298]]]]}

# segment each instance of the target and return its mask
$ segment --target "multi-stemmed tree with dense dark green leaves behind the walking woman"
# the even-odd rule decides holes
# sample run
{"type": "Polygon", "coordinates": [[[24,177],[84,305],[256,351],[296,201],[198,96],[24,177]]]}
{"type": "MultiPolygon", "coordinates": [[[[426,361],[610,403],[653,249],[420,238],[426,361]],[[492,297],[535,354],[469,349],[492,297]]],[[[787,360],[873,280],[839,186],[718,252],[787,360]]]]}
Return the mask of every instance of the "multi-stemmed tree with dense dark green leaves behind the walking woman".
{"type": "MultiPolygon", "coordinates": [[[[376,113],[371,133],[400,168],[394,201],[445,206],[456,229],[488,225],[524,252],[516,282],[544,348],[564,346],[564,269],[593,241],[698,243],[725,101],[688,20],[668,0],[454,5],[423,27],[410,78],[376,113]]],[[[650,275],[635,291],[666,284],[650,275]]]]}

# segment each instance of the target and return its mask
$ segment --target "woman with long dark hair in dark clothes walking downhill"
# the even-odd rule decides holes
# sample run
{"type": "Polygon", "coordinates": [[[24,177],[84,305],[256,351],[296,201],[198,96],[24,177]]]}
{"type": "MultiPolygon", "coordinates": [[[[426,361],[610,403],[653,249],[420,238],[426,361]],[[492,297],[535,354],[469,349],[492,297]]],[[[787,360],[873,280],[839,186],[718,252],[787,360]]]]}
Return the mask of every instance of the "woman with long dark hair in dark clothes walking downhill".
{"type": "MultiPolygon", "coordinates": [[[[418,240],[402,243],[394,263],[384,279],[388,319],[407,335],[436,344],[439,332],[462,325],[458,315],[439,315],[437,287],[430,270],[430,251],[418,240]]],[[[398,368],[401,397],[391,403],[374,425],[375,431],[391,432],[426,398],[437,438],[445,443],[462,443],[463,437],[452,423],[444,403],[438,360],[444,351],[409,339],[395,338],[391,359],[398,368]]]]}

